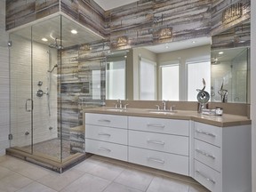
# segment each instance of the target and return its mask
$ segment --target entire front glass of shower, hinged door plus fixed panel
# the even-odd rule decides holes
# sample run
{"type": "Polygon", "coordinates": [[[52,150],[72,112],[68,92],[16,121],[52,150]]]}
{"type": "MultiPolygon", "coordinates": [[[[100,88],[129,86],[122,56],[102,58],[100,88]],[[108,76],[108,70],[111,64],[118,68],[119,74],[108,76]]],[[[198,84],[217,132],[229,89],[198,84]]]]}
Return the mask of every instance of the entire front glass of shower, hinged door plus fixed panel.
{"type": "Polygon", "coordinates": [[[11,148],[61,163],[60,21],[57,16],[10,34],[10,142],[11,148]]]}

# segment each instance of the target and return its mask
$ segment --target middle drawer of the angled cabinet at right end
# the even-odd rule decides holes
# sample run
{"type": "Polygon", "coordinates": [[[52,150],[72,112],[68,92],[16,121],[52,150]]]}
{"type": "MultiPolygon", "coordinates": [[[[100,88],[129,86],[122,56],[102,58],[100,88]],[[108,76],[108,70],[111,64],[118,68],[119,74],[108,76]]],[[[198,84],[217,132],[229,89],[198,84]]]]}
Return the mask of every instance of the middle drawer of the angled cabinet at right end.
{"type": "Polygon", "coordinates": [[[205,143],[201,140],[195,140],[195,158],[212,167],[212,169],[220,172],[220,161],[221,161],[221,152],[220,148],[213,146],[209,143],[205,143]]]}

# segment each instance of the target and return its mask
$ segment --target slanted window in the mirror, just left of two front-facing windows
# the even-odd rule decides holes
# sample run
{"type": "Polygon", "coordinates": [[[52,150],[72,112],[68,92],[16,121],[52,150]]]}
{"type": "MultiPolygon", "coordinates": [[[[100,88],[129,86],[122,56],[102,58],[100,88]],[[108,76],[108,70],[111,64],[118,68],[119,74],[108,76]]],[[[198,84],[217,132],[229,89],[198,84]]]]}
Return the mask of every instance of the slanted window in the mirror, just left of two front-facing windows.
{"type": "Polygon", "coordinates": [[[140,59],[140,100],[156,100],[156,62],[140,59]]]}

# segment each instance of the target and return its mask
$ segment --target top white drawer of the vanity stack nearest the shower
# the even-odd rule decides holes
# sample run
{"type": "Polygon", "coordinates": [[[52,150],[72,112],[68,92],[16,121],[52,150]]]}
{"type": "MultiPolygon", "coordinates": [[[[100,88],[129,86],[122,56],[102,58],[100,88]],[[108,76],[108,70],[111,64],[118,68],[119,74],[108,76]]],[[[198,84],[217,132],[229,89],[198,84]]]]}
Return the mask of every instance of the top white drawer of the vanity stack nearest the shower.
{"type": "Polygon", "coordinates": [[[85,113],[85,124],[127,129],[127,116],[85,113]]]}

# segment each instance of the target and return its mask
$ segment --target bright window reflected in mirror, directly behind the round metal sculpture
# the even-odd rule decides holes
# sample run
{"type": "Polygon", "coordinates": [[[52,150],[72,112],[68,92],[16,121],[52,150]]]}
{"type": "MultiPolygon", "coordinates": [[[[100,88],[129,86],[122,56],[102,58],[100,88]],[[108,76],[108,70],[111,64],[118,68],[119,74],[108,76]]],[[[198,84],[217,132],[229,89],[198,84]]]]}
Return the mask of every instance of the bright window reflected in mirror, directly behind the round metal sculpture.
{"type": "Polygon", "coordinates": [[[203,88],[203,78],[206,82],[205,91],[211,92],[211,62],[187,62],[188,67],[188,101],[197,101],[196,89],[203,88]]]}

